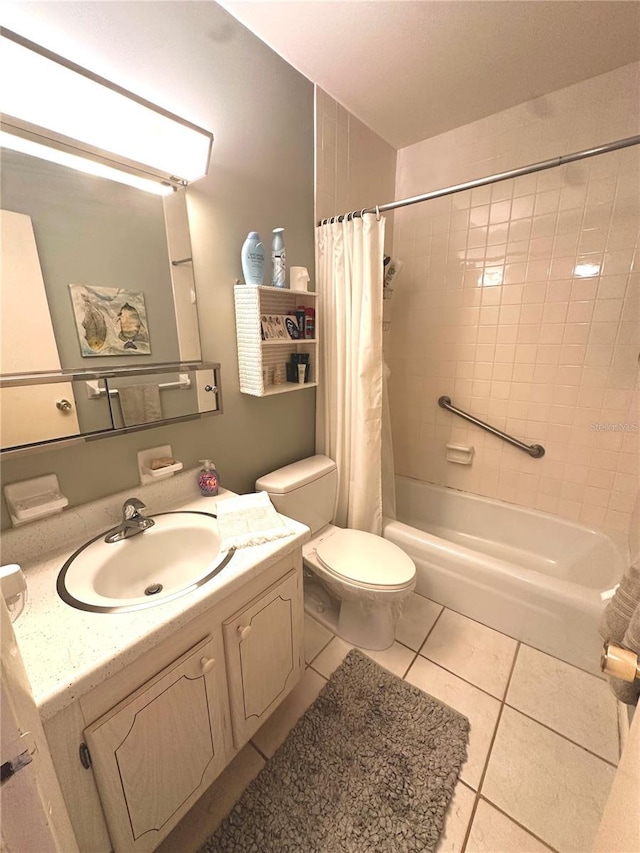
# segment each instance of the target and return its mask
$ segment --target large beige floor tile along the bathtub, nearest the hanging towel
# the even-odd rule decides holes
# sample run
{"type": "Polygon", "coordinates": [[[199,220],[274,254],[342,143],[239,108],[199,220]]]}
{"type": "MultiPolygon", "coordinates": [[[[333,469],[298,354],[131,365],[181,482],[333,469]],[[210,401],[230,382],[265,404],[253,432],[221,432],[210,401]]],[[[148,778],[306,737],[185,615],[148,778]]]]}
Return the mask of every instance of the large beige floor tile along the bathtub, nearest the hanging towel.
{"type": "Polygon", "coordinates": [[[606,681],[521,646],[507,704],[608,761],[620,756],[618,708],[606,681]]]}

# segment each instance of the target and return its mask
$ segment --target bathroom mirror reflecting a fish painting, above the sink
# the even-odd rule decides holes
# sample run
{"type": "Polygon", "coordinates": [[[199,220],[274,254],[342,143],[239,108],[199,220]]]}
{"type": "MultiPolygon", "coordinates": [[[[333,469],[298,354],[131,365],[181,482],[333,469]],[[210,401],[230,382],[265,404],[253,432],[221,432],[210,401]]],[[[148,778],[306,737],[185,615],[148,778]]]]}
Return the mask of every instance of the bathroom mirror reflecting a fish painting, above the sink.
{"type": "MultiPolygon", "coordinates": [[[[199,360],[186,191],[152,195],[21,152],[1,156],[3,375],[199,360]]],[[[195,386],[182,391],[163,394],[163,416],[199,411],[195,386]]],[[[2,449],[131,426],[82,382],[3,388],[2,407],[2,449]]]]}

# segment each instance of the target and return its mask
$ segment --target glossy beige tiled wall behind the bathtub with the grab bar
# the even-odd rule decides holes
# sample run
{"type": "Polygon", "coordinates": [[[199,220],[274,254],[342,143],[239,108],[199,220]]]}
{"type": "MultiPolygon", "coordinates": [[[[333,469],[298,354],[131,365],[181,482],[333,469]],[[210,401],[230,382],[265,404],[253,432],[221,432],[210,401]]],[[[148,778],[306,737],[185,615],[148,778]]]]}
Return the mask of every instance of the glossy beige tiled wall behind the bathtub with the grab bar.
{"type": "MultiPolygon", "coordinates": [[[[640,132],[636,63],[398,152],[396,198],[640,132]]],[[[640,147],[396,211],[396,472],[626,533],[640,451],[640,147]],[[438,408],[440,395],[532,459],[438,408]],[[473,465],[445,444],[475,447],[473,465]]]]}

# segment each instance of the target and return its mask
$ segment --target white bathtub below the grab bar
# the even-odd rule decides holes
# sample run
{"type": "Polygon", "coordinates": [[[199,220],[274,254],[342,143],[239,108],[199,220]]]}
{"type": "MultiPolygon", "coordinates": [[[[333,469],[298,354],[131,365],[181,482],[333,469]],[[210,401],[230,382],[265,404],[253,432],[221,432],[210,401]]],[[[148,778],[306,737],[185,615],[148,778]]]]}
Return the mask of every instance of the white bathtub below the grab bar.
{"type": "Polygon", "coordinates": [[[600,674],[600,593],[624,557],[604,533],[548,513],[396,478],[384,537],[414,560],[416,592],[600,674]]]}

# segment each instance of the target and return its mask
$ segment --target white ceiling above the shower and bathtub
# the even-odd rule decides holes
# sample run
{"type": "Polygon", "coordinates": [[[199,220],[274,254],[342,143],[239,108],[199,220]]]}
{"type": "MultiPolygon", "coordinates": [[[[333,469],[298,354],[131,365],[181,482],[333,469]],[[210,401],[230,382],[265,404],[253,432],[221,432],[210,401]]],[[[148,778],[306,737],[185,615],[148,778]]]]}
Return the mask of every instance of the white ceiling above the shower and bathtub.
{"type": "Polygon", "coordinates": [[[220,0],[402,148],[640,59],[636,0],[220,0]]]}

